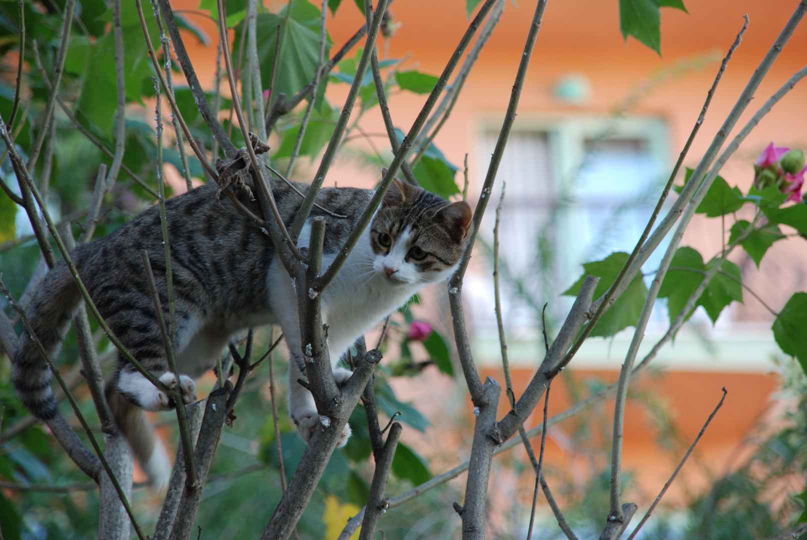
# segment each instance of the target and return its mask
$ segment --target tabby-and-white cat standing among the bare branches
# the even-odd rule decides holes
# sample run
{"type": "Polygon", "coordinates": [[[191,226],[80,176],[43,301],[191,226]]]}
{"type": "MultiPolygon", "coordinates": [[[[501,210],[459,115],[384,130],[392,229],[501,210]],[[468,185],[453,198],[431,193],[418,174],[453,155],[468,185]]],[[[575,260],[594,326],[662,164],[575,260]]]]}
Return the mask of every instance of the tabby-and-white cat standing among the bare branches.
{"type": "MultiPolygon", "coordinates": [[[[278,210],[291,226],[302,203],[299,193],[271,181],[278,210]]],[[[306,193],[308,186],[297,184],[306,193]]],[[[289,412],[306,442],[320,422],[305,380],[294,284],[276,256],[265,231],[226,197],[217,201],[218,186],[207,184],[166,201],[174,299],[176,357],[182,401],[196,401],[196,380],[220,358],[229,341],[247,328],[282,327],[289,348],[289,412]]],[[[246,193],[247,190],[245,190],[246,193]]],[[[260,215],[257,201],[245,193],[240,201],[260,215]]],[[[322,189],[316,202],[347,218],[327,216],[316,206],[311,216],[326,217],[322,268],[328,268],[373,190],[322,189]]],[[[425,189],[395,179],[374,218],[322,295],[322,319],[328,325],[328,350],[337,384],[351,372],[338,359],[367,330],[403,305],[424,285],[445,281],[458,267],[470,236],[471,212],[464,201],[449,202],[425,189]]],[[[311,219],[299,235],[307,247],[311,219]]],[[[169,372],[140,250],[148,250],[162,309],[168,318],[165,251],[157,206],[117,231],[77,247],[71,257],[102,317],[128,351],[169,388],[169,372]]],[[[64,262],[48,272],[28,308],[31,326],[55,358],[82,297],[64,262]]],[[[13,381],[23,405],[48,420],[56,412],[51,372],[30,335],[23,332],[14,356],[13,381]]],[[[161,411],[171,401],[119,355],[107,380],[107,401],[115,422],[128,438],[141,467],[157,486],[167,484],[171,463],[144,410],[161,411]]],[[[339,445],[351,434],[346,425],[339,445]]]]}

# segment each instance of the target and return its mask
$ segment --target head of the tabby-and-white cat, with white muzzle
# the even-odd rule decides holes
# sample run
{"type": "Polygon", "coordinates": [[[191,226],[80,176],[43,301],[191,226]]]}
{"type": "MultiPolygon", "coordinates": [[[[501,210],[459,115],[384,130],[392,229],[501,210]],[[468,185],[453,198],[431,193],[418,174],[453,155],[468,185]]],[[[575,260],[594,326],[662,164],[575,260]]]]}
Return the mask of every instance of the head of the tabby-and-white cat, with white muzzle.
{"type": "Polygon", "coordinates": [[[373,268],[391,285],[448,278],[472,228],[470,206],[395,178],[370,225],[373,268]]]}

